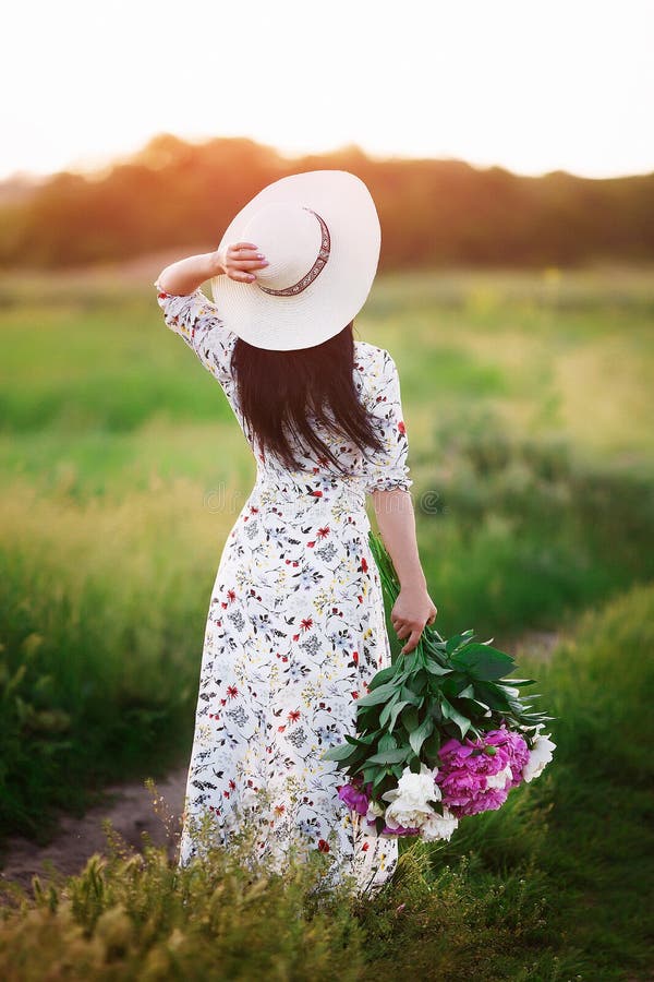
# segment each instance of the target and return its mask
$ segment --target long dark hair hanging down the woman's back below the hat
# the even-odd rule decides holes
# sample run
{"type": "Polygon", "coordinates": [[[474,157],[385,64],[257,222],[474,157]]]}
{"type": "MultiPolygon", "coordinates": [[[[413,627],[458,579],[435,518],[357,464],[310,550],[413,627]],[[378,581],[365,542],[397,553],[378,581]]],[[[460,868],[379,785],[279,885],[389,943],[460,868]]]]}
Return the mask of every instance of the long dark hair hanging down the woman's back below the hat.
{"type": "Polygon", "coordinates": [[[346,472],[342,460],[311,426],[310,414],[337,439],[351,440],[364,456],[366,447],[384,450],[354,385],[353,326],[350,321],[323,344],[295,351],[257,348],[237,339],[231,369],[246,430],[290,469],[302,466],[292,440],[346,472]]]}

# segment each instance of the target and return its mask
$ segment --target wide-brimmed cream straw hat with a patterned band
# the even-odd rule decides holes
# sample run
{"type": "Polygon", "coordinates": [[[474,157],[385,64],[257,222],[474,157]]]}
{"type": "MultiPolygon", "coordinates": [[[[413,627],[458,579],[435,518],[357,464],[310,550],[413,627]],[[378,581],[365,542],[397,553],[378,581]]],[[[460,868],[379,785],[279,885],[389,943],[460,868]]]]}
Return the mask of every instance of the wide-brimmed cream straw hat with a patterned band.
{"type": "Polygon", "coordinates": [[[211,279],[220,318],[257,348],[291,351],[346,327],[370,294],[382,244],[375,203],[347,170],[308,170],[259,191],[228,226],[218,251],[252,242],[269,265],[256,279],[211,279]]]}

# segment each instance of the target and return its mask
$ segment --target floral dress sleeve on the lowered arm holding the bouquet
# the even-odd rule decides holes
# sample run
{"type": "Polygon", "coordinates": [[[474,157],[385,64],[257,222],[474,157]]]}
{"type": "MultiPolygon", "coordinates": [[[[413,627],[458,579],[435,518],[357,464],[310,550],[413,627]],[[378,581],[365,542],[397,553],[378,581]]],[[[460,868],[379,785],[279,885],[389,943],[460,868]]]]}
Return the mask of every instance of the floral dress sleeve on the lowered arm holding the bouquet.
{"type": "Polygon", "coordinates": [[[407,464],[409,441],[402,412],[400,378],[389,352],[384,348],[380,351],[377,385],[367,408],[373,417],[373,424],[384,441],[385,450],[383,453],[375,451],[370,455],[372,463],[368,464],[365,488],[368,494],[373,491],[396,489],[408,491],[413,484],[407,464]]]}

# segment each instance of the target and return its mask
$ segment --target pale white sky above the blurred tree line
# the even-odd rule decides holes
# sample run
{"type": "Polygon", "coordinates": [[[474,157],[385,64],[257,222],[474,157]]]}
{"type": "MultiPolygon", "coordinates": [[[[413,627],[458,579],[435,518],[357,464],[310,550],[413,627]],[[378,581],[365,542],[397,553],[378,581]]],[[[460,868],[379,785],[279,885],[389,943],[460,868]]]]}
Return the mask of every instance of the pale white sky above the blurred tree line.
{"type": "Polygon", "coordinates": [[[0,179],[158,133],[654,170],[654,0],[14,0],[2,27],[0,179]]]}

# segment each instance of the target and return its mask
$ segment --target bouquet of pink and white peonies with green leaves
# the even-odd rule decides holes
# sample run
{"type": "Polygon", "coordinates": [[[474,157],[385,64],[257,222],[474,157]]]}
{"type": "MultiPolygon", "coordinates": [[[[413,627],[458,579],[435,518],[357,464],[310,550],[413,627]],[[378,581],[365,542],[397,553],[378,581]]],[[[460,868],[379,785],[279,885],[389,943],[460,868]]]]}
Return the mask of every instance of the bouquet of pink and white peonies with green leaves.
{"type": "MultiPolygon", "coordinates": [[[[396,570],[372,529],[370,543],[392,607],[396,570]]],[[[513,658],[474,637],[446,640],[426,625],[413,651],[371,680],[356,735],[323,755],[349,778],[339,798],[378,835],[449,839],[460,818],[499,809],[552,761],[556,744],[540,731],[556,717],[520,695],[535,680],[506,679],[513,658]]]]}

